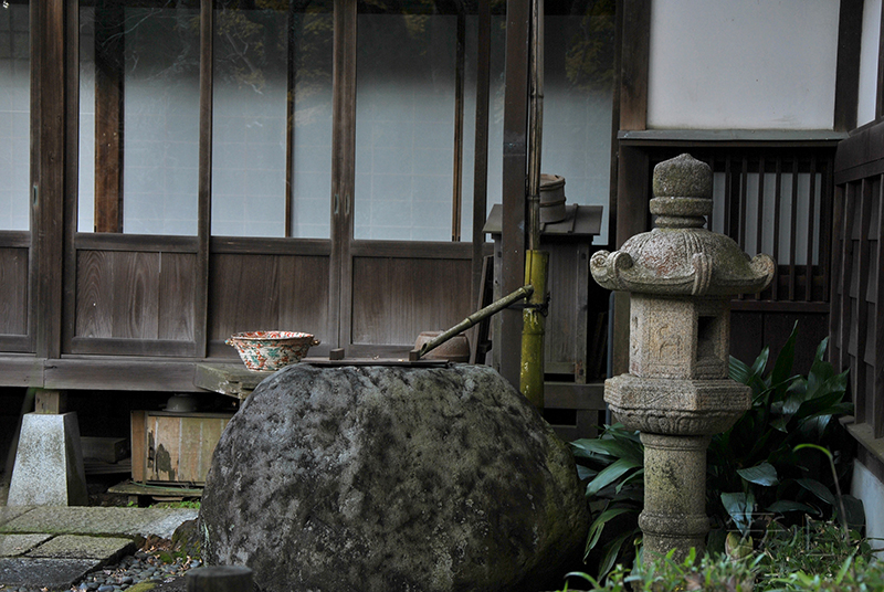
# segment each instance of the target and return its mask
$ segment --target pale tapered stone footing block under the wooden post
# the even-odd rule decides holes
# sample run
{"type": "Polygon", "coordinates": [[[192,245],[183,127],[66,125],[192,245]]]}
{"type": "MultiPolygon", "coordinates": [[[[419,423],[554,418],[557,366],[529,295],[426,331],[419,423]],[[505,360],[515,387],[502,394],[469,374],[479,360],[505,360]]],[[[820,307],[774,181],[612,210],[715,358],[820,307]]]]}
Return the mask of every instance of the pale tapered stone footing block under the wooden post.
{"type": "Polygon", "coordinates": [[[7,506],[88,503],[76,413],[25,413],[7,506]]]}

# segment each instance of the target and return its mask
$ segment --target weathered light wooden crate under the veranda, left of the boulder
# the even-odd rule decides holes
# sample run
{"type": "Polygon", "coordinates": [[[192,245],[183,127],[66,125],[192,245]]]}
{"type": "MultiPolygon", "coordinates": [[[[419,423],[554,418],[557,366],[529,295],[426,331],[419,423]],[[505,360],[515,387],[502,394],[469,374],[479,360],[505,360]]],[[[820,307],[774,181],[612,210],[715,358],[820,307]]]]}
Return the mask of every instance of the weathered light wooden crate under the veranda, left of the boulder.
{"type": "Polygon", "coordinates": [[[131,478],[203,485],[232,413],[131,412],[131,478]]]}

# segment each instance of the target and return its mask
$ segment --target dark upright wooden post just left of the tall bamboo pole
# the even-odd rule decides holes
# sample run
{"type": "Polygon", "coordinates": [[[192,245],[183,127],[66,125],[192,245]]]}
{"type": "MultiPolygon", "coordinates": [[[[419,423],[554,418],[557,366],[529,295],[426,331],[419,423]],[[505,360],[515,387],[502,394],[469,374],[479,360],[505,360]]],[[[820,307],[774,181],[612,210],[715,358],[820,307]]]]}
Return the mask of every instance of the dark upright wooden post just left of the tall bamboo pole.
{"type": "MultiPolygon", "coordinates": [[[[501,290],[509,294],[525,281],[525,204],[528,167],[528,40],[530,2],[506,2],[506,70],[504,97],[503,154],[503,232],[501,290]]],[[[515,388],[519,383],[522,351],[522,313],[501,311],[501,336],[494,347],[501,348],[501,374],[515,388]]]]}

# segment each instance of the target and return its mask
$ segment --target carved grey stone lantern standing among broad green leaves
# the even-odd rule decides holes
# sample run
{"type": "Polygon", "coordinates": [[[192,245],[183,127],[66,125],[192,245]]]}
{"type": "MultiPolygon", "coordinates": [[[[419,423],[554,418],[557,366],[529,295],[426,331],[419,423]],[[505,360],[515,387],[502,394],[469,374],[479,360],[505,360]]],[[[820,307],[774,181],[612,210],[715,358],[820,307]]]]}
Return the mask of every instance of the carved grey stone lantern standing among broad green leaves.
{"type": "Polygon", "coordinates": [[[776,271],[705,228],[712,170],[690,155],[654,168],[654,230],[620,251],[600,251],[592,276],[631,293],[629,373],[604,383],[611,413],[644,444],[644,548],[683,559],[702,551],[706,447],[750,408],[750,389],[728,378],[730,298],[760,292],[776,271]]]}

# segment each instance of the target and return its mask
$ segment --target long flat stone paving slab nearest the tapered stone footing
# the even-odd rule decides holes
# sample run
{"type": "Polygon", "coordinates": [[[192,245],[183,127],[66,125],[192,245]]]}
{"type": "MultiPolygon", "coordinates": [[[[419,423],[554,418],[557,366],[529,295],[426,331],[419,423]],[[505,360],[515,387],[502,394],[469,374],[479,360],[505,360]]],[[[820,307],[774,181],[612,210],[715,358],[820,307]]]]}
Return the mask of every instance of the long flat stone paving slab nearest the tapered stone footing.
{"type": "Polygon", "coordinates": [[[181,522],[197,518],[191,508],[90,508],[51,507],[31,511],[0,526],[0,532],[51,532],[55,535],[97,535],[170,539],[181,522]]]}

